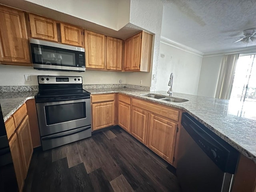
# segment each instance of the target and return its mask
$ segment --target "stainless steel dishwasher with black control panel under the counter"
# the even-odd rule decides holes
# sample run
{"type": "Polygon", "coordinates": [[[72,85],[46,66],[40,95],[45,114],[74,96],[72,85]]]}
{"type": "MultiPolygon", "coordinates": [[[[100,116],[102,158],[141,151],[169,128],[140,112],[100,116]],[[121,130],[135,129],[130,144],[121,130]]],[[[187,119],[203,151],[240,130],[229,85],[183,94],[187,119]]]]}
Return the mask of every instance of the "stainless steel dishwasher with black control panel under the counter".
{"type": "Polygon", "coordinates": [[[188,113],[182,126],[176,168],[182,191],[231,191],[239,152],[188,113]]]}

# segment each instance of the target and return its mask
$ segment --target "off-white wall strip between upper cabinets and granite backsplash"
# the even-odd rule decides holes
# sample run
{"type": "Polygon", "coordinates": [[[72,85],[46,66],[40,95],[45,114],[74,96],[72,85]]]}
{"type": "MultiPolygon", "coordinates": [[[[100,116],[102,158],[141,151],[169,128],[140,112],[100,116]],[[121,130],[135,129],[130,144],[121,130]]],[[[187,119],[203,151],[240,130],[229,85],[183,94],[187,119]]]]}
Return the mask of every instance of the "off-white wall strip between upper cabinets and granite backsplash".
{"type": "Polygon", "coordinates": [[[63,75],[82,76],[83,84],[118,84],[122,79],[122,84],[126,83],[124,72],[108,72],[86,70],[86,72],[58,72],[35,70],[26,66],[10,66],[0,64],[0,86],[17,85],[38,85],[38,75],[63,75]],[[24,74],[30,74],[31,81],[25,81],[24,74]]]}

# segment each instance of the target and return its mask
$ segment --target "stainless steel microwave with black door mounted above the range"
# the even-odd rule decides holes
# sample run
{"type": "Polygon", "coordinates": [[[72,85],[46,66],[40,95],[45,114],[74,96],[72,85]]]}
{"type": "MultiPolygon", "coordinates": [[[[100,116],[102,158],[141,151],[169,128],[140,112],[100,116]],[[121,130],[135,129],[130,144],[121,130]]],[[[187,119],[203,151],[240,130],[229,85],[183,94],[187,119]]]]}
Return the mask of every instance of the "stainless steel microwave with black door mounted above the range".
{"type": "Polygon", "coordinates": [[[85,71],[84,48],[30,39],[34,69],[85,71]]]}

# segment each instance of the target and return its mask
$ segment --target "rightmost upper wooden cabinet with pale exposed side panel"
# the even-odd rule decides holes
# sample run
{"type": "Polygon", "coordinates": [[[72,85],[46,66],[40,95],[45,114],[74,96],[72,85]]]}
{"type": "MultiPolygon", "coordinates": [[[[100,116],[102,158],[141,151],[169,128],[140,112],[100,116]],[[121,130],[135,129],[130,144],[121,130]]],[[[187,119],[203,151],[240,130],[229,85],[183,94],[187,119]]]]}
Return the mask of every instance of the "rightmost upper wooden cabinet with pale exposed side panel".
{"type": "Polygon", "coordinates": [[[152,34],[142,31],[125,40],[125,71],[150,71],[152,38],[152,34]]]}

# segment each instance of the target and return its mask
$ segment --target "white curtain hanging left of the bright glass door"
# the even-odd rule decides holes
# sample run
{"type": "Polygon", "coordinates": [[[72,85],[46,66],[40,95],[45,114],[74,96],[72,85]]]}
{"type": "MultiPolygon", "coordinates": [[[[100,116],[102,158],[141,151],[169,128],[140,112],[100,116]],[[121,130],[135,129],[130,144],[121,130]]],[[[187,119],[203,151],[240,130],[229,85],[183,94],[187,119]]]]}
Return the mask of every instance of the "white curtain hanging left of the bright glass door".
{"type": "Polygon", "coordinates": [[[238,57],[239,54],[230,54],[223,57],[215,98],[230,99],[238,57]]]}

